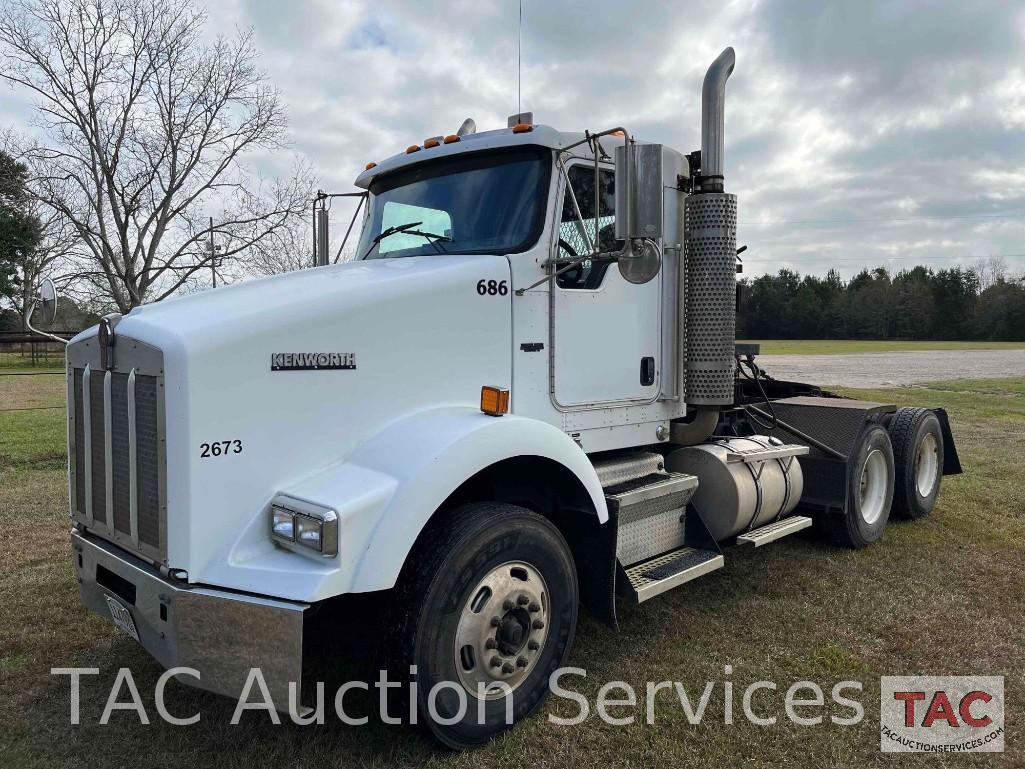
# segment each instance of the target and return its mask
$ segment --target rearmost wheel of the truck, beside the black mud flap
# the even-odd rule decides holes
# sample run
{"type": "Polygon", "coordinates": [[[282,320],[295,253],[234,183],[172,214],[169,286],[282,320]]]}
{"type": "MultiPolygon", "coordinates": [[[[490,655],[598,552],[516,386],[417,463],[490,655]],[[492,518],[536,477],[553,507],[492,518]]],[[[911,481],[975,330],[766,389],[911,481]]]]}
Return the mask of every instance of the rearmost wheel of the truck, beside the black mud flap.
{"type": "Polygon", "coordinates": [[[893,513],[914,520],[936,507],[943,478],[943,432],[928,408],[902,408],[889,424],[896,481],[893,513]]]}

